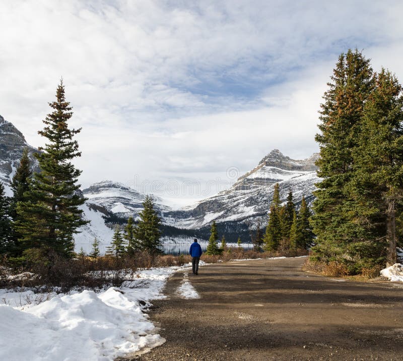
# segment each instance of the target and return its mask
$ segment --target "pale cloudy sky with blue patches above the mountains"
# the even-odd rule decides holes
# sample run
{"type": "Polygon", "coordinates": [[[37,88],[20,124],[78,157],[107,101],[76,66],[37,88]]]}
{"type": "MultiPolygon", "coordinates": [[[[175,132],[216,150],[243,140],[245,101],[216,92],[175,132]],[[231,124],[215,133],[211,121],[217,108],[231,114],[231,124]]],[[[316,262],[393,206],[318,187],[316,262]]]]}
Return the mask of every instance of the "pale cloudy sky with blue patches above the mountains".
{"type": "Polygon", "coordinates": [[[0,2],[0,114],[38,147],[60,77],[83,187],[111,179],[175,204],[231,185],[272,149],[318,150],[337,57],[403,79],[400,1],[0,2]]]}

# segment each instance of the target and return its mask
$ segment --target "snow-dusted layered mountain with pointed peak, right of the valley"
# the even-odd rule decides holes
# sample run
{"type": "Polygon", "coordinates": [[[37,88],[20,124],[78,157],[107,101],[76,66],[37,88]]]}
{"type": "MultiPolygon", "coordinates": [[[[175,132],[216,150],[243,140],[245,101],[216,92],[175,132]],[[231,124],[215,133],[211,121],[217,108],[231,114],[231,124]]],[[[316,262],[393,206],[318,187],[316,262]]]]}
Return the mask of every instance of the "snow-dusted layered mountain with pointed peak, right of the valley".
{"type": "Polygon", "coordinates": [[[278,149],[267,154],[259,164],[238,178],[228,190],[182,211],[169,212],[170,224],[184,228],[200,228],[216,222],[266,220],[273,197],[274,185],[279,183],[281,201],[285,202],[291,189],[295,203],[302,196],[313,199],[312,191],[319,178],[315,160],[318,153],[303,160],[294,160],[278,149]],[[173,222],[172,222],[173,220],[173,222]]]}

